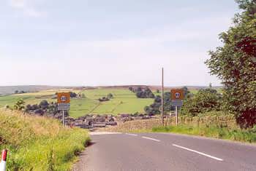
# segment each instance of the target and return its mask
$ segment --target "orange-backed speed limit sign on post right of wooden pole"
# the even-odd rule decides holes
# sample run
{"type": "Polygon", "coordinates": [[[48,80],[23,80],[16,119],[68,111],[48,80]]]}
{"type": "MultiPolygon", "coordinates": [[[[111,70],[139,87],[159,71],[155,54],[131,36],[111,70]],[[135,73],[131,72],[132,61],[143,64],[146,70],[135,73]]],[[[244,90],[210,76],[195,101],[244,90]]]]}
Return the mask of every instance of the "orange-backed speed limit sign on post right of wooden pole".
{"type": "Polygon", "coordinates": [[[178,125],[178,108],[183,105],[184,100],[184,90],[182,89],[173,89],[170,90],[172,106],[175,106],[176,114],[176,126],[178,125]]]}

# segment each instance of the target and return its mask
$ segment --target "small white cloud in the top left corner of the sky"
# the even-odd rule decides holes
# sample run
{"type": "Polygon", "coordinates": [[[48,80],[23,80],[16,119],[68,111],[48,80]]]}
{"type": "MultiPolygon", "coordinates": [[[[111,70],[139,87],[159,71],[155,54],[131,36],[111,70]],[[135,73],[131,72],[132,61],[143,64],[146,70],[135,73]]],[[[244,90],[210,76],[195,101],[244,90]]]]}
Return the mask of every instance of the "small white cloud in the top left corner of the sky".
{"type": "Polygon", "coordinates": [[[9,0],[10,7],[22,11],[30,17],[42,17],[45,12],[39,12],[35,9],[37,1],[32,0],[9,0]]]}

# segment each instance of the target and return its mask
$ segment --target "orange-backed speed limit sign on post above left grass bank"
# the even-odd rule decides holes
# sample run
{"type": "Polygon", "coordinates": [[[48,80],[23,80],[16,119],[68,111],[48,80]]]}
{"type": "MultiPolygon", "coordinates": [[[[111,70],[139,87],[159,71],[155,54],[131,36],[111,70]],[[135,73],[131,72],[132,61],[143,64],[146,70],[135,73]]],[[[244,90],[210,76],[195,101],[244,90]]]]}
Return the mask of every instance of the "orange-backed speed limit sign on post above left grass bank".
{"type": "Polygon", "coordinates": [[[62,125],[64,127],[64,111],[68,111],[70,108],[70,93],[58,92],[57,94],[58,110],[62,111],[62,125]]]}

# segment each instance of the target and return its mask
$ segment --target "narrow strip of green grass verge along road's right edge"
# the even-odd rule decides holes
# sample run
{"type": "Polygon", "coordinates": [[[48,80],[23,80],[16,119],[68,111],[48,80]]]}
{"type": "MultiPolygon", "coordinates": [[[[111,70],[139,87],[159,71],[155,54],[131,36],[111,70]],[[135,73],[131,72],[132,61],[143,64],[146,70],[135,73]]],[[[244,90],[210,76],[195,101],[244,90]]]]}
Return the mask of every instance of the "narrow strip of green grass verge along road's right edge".
{"type": "Polygon", "coordinates": [[[187,125],[154,127],[152,132],[173,132],[186,135],[200,135],[208,138],[236,140],[246,143],[256,143],[256,127],[248,130],[228,129],[227,127],[195,127],[187,125]]]}

